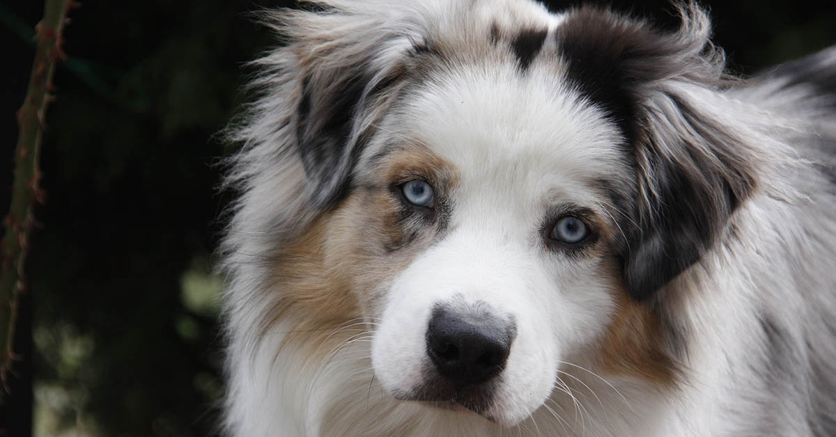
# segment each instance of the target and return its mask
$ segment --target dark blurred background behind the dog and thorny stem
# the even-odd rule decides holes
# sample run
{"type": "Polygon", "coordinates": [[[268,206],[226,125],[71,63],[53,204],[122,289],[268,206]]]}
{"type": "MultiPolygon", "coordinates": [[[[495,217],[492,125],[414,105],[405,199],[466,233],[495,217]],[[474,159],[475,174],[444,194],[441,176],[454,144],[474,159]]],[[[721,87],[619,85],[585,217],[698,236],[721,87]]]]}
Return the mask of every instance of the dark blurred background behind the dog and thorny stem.
{"type": "MultiPolygon", "coordinates": [[[[243,64],[273,44],[247,13],[292,2],[83,3],[55,75],[48,197],[28,259],[35,434],[211,435],[222,394],[212,250],[228,201],[217,160],[234,150],[213,135],[246,98],[243,64]]],[[[613,4],[675,24],[665,0],[613,4]]],[[[836,43],[836,2],[703,4],[738,74],[836,43]]],[[[41,0],[0,3],[0,215],[42,14],[41,0]]]]}

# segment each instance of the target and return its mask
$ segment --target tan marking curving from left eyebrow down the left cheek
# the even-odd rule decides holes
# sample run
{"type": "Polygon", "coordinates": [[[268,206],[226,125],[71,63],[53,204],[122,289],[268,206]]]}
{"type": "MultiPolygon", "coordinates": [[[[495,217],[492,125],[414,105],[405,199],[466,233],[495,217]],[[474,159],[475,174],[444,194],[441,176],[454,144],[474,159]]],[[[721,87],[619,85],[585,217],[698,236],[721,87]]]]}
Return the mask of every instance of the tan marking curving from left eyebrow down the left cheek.
{"type": "Polygon", "coordinates": [[[277,292],[268,297],[271,304],[263,317],[264,333],[278,320],[292,316],[298,323],[285,343],[310,348],[312,356],[322,358],[340,342],[368,332],[368,326],[360,325],[333,335],[354,319],[379,314],[386,284],[434,240],[433,224],[420,229],[400,224],[402,206],[391,187],[421,177],[443,196],[457,180],[452,166],[415,146],[386,156],[375,174],[379,179],[374,184],[356,187],[283,247],[273,270],[277,292]],[[408,247],[387,251],[387,246],[413,231],[421,236],[408,247]]]}

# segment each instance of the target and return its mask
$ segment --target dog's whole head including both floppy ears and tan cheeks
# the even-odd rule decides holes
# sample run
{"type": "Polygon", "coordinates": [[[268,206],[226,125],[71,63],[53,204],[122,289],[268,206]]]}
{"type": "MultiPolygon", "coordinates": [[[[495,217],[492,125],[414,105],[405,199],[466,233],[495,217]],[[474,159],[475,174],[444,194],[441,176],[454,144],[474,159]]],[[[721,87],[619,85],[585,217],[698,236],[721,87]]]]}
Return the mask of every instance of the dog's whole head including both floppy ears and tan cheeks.
{"type": "Polygon", "coordinates": [[[259,114],[289,109],[258,129],[303,168],[273,208],[303,222],[295,250],[319,246],[290,259],[337,285],[283,298],[370,321],[395,398],[502,424],[577,357],[670,383],[655,308],[754,184],[701,103],[722,69],[705,15],[662,33],[510,0],[323,7],[283,18],[262,84],[288,100],[259,114]]]}

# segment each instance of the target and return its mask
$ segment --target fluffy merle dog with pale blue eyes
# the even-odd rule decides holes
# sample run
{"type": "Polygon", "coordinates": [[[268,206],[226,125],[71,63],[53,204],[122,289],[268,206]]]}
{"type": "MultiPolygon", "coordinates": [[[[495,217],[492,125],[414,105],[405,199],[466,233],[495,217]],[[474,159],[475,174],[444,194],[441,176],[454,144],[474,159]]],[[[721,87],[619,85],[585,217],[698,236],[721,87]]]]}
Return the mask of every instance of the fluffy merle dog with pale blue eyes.
{"type": "Polygon", "coordinates": [[[836,48],[528,0],[263,15],[230,436],[836,435],[836,48]]]}

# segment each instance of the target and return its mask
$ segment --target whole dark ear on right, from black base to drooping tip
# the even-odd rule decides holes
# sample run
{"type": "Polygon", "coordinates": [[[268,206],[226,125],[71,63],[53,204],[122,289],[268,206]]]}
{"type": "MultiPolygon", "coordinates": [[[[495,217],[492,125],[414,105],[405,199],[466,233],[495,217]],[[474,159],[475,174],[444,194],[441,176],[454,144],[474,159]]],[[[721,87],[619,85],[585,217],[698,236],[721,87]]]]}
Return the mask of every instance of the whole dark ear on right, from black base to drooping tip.
{"type": "Polygon", "coordinates": [[[755,183],[752,149],[699,97],[723,83],[708,18],[694,5],[681,13],[680,30],[662,33],[580,9],[558,35],[568,77],[619,125],[635,164],[621,257],[636,300],[697,262],[755,183]]]}

